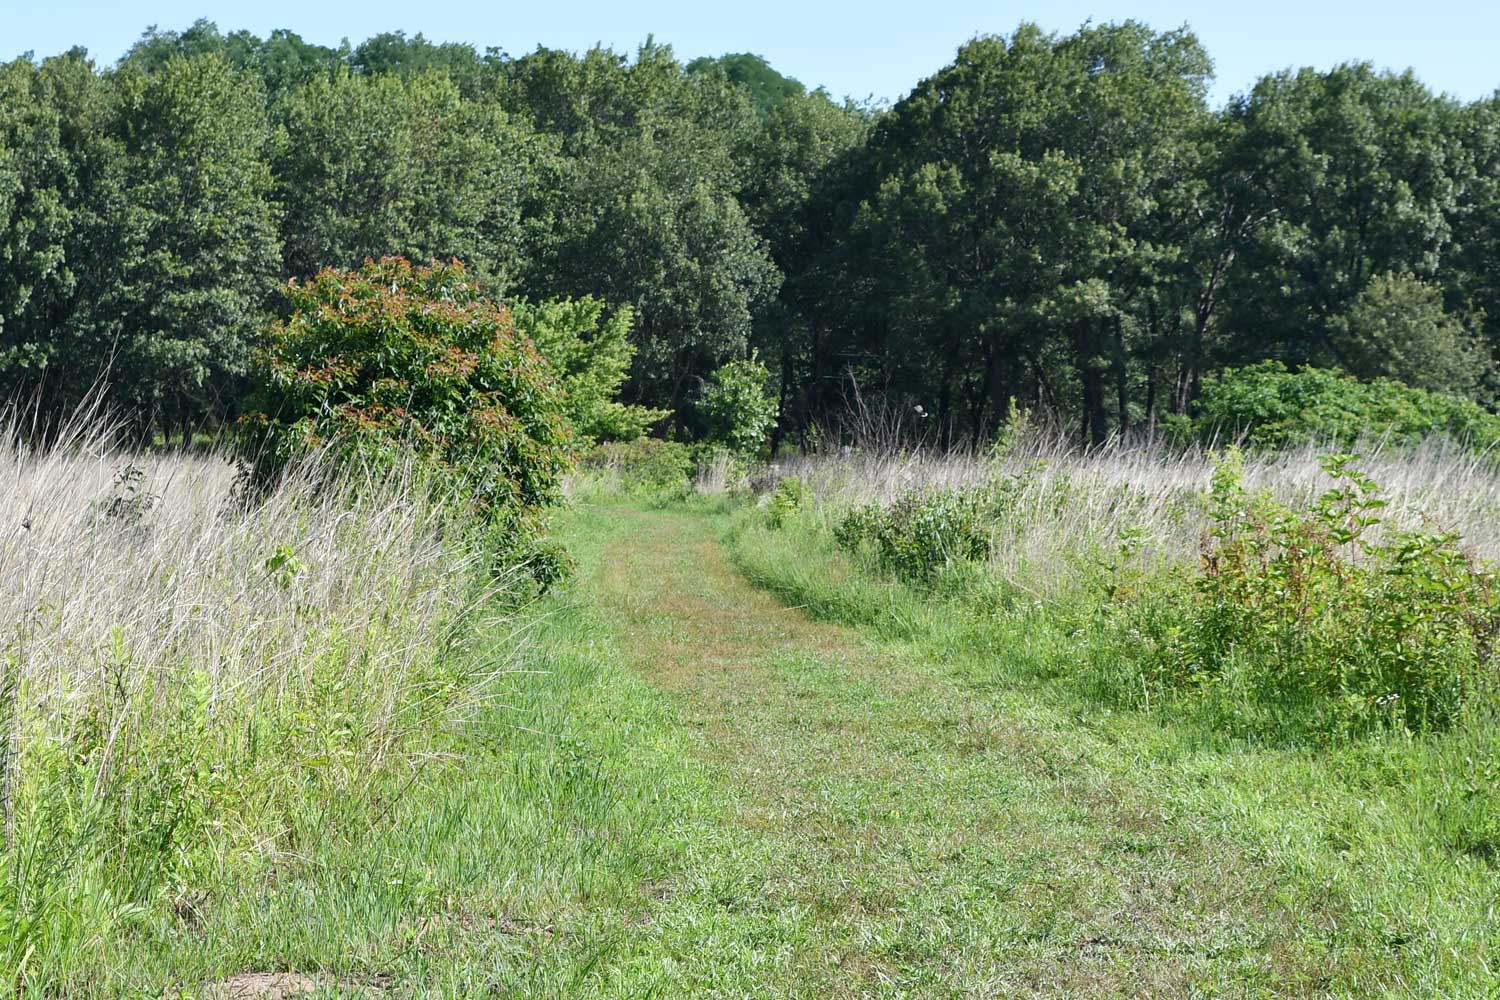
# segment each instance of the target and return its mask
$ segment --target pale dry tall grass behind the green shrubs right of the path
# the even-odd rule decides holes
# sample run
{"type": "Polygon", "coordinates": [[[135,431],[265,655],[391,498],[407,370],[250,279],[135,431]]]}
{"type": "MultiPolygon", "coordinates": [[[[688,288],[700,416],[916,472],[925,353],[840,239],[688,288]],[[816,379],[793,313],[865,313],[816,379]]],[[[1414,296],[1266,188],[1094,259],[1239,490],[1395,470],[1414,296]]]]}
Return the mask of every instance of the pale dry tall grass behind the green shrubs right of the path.
{"type": "MultiPolygon", "coordinates": [[[[1040,595],[1072,588],[1100,553],[1130,535],[1148,562],[1196,565],[1215,453],[1164,442],[1083,450],[1044,430],[1026,433],[1002,454],[902,445],[876,435],[867,447],[831,447],[783,459],[777,475],[802,478],[825,517],[854,504],[888,502],[910,489],[964,487],[1005,480],[1010,516],[992,546],[994,573],[1040,595]]],[[[1334,447],[1308,445],[1245,457],[1245,483],[1282,501],[1308,501],[1330,487],[1320,460],[1334,447]]],[[[1500,465],[1494,456],[1430,439],[1416,448],[1366,442],[1359,466],[1383,489],[1392,525],[1456,531],[1482,559],[1500,559],[1500,465]]]]}

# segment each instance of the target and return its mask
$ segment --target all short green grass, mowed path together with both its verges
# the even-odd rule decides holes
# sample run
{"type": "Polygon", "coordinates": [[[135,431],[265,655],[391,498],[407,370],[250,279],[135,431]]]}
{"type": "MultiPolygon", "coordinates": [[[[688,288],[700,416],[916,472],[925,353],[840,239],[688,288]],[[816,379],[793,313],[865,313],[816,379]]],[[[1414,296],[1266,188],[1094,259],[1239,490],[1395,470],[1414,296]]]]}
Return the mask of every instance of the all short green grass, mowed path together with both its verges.
{"type": "Polygon", "coordinates": [[[489,637],[525,643],[496,706],[94,991],[1494,993],[1478,727],[1227,741],[1096,697],[1046,615],[976,618],[795,517],[588,505],[561,534],[576,577],[489,637]]]}

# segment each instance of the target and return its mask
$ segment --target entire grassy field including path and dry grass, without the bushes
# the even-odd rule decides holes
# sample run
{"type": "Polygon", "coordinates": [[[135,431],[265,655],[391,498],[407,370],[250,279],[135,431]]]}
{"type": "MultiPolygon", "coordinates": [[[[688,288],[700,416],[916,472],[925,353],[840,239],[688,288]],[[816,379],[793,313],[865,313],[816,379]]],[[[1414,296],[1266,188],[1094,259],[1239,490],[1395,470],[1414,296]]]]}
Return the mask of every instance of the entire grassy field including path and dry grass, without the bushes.
{"type": "MultiPolygon", "coordinates": [[[[579,489],[525,606],[414,478],[243,508],[213,457],[4,462],[0,993],[1494,994],[1486,700],[1332,739],[1120,694],[1080,595],[1122,526],[1191,568],[1197,459],[1004,457],[1029,513],[926,580],[842,511],[994,462],[579,489]]],[[[1378,462],[1490,544],[1480,465],[1378,462]]]]}

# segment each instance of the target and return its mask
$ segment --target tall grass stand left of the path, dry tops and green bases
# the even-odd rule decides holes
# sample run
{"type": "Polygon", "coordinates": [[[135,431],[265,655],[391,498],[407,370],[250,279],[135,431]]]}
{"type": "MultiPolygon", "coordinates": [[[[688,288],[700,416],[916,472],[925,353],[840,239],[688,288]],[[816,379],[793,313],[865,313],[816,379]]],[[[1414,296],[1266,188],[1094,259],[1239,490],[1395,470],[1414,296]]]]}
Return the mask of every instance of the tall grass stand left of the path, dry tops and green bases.
{"type": "Polygon", "coordinates": [[[222,454],[99,424],[0,445],[0,982],[66,982],[273,865],[298,813],[414,769],[504,666],[456,655],[492,583],[414,469],[236,486],[222,454]]]}

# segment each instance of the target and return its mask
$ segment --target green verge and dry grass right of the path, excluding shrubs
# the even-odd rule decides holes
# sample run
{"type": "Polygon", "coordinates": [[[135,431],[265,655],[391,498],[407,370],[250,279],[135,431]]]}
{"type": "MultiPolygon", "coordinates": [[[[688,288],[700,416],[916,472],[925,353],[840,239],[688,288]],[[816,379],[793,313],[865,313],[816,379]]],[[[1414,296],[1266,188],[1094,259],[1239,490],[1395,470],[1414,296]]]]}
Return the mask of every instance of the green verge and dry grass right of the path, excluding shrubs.
{"type": "MultiPolygon", "coordinates": [[[[1252,459],[1251,477],[1306,502],[1329,486],[1316,459],[1252,459]]],[[[1436,510],[1437,523],[1468,532],[1476,550],[1494,556],[1485,516],[1500,478],[1485,459],[1430,445],[1376,451],[1362,468],[1383,481],[1396,519],[1420,523],[1420,511],[1436,510]]],[[[956,678],[1023,691],[1071,720],[1080,745],[1112,747],[1100,766],[1149,789],[1162,816],[1230,838],[1280,873],[1302,922],[1298,937],[1326,949],[1314,993],[1486,996],[1500,858],[1492,702],[1472,700],[1443,732],[1329,739],[1248,687],[1154,699],[1146,649],[1131,636],[1150,610],[1143,601],[1158,598],[1143,588],[1104,613],[1098,556],[1122,529],[1144,526],[1158,547],[1148,573],[1197,571],[1209,526],[1198,498],[1210,472],[1204,456],[1054,450],[1011,463],[843,454],[784,471],[801,475],[813,499],[780,528],[766,511],[740,514],[729,538],[750,579],[810,613],[928,651],[956,678]],[[1016,523],[996,529],[986,561],[902,582],[872,553],[834,541],[850,504],[924,484],[976,484],[998,471],[1020,475],[1038,502],[1020,504],[1016,523]],[[1059,490],[1066,502],[1041,502],[1059,490]]]]}

